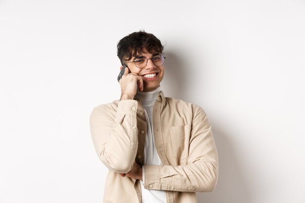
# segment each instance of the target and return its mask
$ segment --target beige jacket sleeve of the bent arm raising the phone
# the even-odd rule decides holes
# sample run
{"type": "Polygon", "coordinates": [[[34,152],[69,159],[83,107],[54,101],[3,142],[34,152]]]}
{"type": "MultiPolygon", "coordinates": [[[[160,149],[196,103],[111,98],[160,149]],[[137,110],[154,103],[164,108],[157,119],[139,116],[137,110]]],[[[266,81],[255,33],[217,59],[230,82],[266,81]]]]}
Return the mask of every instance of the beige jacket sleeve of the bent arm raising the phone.
{"type": "Polygon", "coordinates": [[[137,101],[122,100],[117,110],[110,105],[95,107],[90,116],[93,144],[102,163],[110,170],[127,173],[137,152],[137,101]]]}

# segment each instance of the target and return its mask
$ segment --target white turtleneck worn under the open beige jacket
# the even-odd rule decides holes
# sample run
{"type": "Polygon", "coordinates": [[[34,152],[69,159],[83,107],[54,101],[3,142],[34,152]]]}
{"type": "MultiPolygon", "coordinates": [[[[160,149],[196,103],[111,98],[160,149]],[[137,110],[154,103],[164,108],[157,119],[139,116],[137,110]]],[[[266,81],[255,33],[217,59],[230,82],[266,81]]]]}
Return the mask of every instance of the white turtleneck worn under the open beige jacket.
{"type": "MultiPolygon", "coordinates": [[[[158,94],[161,92],[160,86],[152,92],[137,92],[135,98],[140,99],[144,110],[147,123],[147,132],[144,147],[144,165],[161,165],[162,162],[159,158],[154,144],[153,128],[152,128],[152,110],[155,101],[157,101],[158,94]]],[[[143,181],[144,180],[144,167],[143,167],[143,181]]],[[[166,203],[166,193],[164,190],[148,190],[144,188],[143,182],[140,181],[142,190],[142,203],[166,203]]]]}

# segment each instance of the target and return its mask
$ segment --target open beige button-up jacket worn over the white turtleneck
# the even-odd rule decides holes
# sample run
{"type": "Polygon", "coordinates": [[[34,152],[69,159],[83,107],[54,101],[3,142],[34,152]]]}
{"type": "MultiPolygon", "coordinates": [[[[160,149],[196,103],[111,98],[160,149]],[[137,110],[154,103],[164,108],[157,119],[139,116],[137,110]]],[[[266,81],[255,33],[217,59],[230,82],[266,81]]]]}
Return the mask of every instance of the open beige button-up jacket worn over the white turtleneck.
{"type": "MultiPolygon", "coordinates": [[[[196,203],[195,192],[212,191],[218,155],[210,122],[197,105],[164,97],[153,107],[153,134],[161,166],[144,165],[144,187],[166,190],[167,203],[196,203]]],[[[109,168],[104,203],[141,203],[139,180],[121,177],[134,161],[143,166],[145,111],[139,100],[95,107],[90,117],[95,150],[109,168]]]]}

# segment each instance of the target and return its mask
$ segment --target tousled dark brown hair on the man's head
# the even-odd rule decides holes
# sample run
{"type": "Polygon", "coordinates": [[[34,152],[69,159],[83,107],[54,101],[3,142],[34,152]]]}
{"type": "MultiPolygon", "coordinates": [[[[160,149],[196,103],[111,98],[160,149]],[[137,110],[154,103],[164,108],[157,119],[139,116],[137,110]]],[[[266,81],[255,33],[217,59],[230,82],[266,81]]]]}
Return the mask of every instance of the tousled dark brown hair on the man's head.
{"type": "Polygon", "coordinates": [[[161,41],[157,37],[143,30],[129,34],[119,40],[117,43],[117,56],[123,65],[144,50],[151,54],[155,52],[163,54],[163,48],[161,41]]]}

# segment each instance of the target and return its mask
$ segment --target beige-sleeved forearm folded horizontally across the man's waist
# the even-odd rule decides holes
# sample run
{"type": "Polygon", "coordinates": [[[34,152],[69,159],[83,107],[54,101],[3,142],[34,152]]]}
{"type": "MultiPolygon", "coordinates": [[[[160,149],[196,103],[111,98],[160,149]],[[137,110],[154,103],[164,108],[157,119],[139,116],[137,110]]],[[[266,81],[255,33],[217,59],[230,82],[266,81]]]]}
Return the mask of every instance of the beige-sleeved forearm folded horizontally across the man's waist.
{"type": "Polygon", "coordinates": [[[217,183],[218,163],[197,161],[184,166],[144,165],[146,189],[210,192],[217,183]]]}

